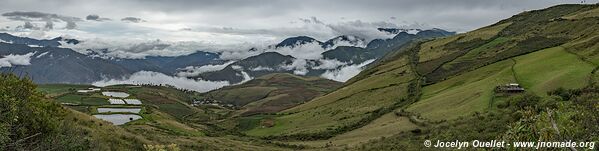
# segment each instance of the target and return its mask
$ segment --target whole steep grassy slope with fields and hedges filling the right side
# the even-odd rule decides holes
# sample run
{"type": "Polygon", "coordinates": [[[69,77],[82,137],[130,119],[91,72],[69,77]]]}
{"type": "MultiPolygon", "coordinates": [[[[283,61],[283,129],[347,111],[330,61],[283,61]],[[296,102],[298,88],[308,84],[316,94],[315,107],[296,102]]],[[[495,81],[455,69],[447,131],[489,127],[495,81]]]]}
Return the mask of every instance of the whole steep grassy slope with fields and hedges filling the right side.
{"type": "Polygon", "coordinates": [[[372,126],[394,110],[414,114],[409,116],[415,117],[412,123],[402,125],[434,124],[495,110],[509,96],[493,90],[506,83],[521,83],[539,96],[558,87],[584,87],[597,77],[596,9],[597,5],[559,5],[471,32],[415,42],[378,60],[337,91],[278,115],[259,117],[274,124],[245,133],[333,141],[372,126]]]}

